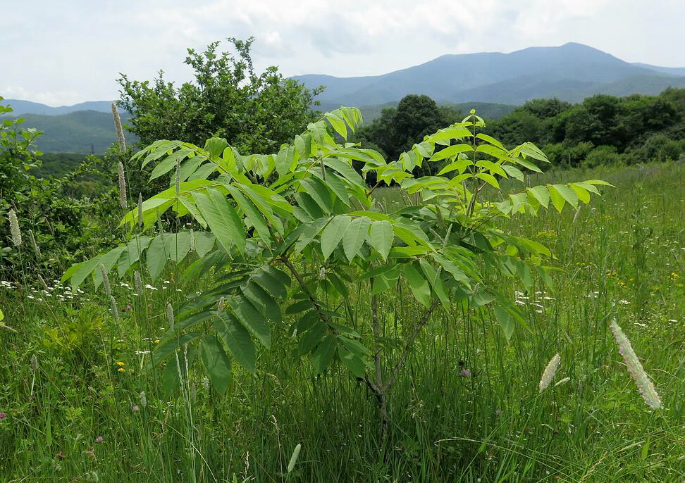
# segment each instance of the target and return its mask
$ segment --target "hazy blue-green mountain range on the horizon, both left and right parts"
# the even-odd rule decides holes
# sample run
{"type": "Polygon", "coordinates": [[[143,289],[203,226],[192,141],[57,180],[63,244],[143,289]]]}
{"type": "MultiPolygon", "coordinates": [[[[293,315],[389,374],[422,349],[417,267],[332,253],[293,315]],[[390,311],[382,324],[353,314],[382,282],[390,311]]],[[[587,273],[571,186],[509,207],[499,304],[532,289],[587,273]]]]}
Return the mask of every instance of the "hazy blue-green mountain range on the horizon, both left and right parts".
{"type": "MultiPolygon", "coordinates": [[[[667,87],[685,88],[685,67],[628,63],[583,44],[531,47],[502,54],[448,54],[421,65],[383,75],[292,77],[307,87],[326,86],[316,98],[319,110],[341,105],[361,108],[369,122],[382,108],[397,105],[407,94],[426,94],[463,111],[476,107],[485,117],[500,117],[530,99],[558,97],[579,102],[594,94],[659,94],[667,87]]],[[[0,92],[1,94],[1,92],[0,92]]],[[[13,115],[44,131],[45,152],[98,153],[116,139],[110,101],[50,107],[6,99],[13,115]]]]}

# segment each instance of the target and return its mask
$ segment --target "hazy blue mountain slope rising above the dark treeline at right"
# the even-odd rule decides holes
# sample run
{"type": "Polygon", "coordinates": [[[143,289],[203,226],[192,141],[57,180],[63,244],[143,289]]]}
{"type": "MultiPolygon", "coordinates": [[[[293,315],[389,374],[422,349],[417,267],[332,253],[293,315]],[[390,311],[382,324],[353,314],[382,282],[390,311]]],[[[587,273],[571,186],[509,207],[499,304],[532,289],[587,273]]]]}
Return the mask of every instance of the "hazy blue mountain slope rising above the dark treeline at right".
{"type": "Polygon", "coordinates": [[[515,103],[557,96],[580,101],[597,93],[652,94],[685,86],[676,68],[622,61],[582,44],[531,47],[498,52],[440,56],[433,61],[368,77],[300,75],[307,87],[326,85],[322,103],[373,106],[406,94],[426,94],[439,103],[469,101],[515,103]]]}

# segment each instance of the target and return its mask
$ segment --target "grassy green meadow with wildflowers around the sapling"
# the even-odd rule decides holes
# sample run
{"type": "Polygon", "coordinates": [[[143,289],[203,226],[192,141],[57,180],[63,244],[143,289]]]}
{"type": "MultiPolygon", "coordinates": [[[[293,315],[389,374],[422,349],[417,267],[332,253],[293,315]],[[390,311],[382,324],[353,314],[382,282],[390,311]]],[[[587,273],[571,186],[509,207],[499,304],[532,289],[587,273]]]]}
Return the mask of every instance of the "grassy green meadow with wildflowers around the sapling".
{"type": "MultiPolygon", "coordinates": [[[[503,227],[546,244],[559,269],[553,289],[500,287],[527,327],[507,344],[486,313],[436,311],[390,394],[385,437],[365,384],[335,364],[312,376],[284,341],[288,320],[257,375],[233,365],[225,397],[192,366],[183,394],[163,394],[162,371],[144,363],[168,327],[166,304],[202,289],[178,272],[142,296],[132,278],[113,280],[118,322],[92,285],[42,286],[27,272],[0,282],[0,482],[685,481],[685,165],[530,182],[593,178],[615,189],[577,212],[503,227]],[[612,320],[664,408],[641,399],[612,320]],[[540,392],[555,353],[560,367],[540,392]]],[[[385,210],[407,203],[394,189],[376,195],[385,210]]],[[[368,294],[356,302],[371,311],[368,294]]],[[[399,352],[397,320],[421,308],[406,287],[380,303],[386,350],[399,352]]]]}

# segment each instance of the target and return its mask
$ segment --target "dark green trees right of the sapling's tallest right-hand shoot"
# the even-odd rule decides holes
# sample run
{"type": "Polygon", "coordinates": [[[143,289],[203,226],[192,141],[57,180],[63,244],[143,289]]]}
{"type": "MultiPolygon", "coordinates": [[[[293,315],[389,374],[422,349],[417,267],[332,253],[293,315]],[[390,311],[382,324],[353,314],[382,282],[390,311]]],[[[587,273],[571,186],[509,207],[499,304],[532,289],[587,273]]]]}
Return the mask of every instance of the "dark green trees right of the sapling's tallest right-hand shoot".
{"type": "Polygon", "coordinates": [[[494,120],[488,132],[510,146],[526,139],[539,142],[555,165],[580,165],[595,146],[599,152],[590,163],[617,162],[601,146],[615,149],[626,164],[677,159],[683,152],[678,139],[685,137],[683,99],[685,89],[659,96],[600,94],[575,105],[535,99],[494,120]]]}

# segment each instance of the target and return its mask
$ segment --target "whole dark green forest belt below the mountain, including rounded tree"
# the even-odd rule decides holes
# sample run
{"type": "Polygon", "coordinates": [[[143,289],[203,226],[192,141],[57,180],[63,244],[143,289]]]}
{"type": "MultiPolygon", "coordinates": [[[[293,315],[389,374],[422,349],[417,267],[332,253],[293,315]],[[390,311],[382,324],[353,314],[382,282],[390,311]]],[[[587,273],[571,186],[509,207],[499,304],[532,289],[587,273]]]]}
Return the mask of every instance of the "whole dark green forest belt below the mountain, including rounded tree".
{"type": "MultiPolygon", "coordinates": [[[[362,128],[359,139],[396,158],[424,135],[464,115],[412,94],[397,108],[383,109],[362,128]]],[[[500,118],[486,119],[486,124],[485,132],[507,146],[536,143],[555,166],[677,160],[685,156],[685,89],[666,89],[658,96],[598,94],[577,104],[535,99],[500,118]]]]}

